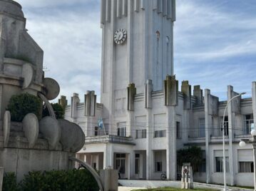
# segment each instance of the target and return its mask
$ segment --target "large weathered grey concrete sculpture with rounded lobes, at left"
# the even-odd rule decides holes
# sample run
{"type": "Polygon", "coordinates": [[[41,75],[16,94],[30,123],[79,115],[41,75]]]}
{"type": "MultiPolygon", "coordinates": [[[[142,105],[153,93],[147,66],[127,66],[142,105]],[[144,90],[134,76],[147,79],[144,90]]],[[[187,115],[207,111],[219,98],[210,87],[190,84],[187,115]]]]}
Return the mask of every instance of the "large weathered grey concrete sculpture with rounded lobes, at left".
{"type": "Polygon", "coordinates": [[[69,157],[83,147],[85,136],[78,125],[57,120],[48,100],[60,87],[43,76],[43,51],[26,30],[21,5],[0,0],[0,167],[15,172],[18,181],[31,170],[67,170],[69,157]],[[6,110],[11,96],[29,93],[46,103],[51,116],[27,114],[12,122],[6,110]]]}

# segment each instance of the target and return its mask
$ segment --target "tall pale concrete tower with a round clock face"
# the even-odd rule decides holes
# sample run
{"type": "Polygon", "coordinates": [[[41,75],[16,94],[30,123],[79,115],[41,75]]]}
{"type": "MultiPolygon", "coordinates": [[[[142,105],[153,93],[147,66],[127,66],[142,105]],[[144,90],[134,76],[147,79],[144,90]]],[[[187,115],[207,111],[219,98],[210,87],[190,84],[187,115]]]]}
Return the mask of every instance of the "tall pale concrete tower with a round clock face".
{"type": "Polygon", "coordinates": [[[101,0],[103,118],[125,115],[127,87],[153,91],[173,75],[175,0],[101,0]],[[116,114],[115,114],[116,113],[116,114]]]}

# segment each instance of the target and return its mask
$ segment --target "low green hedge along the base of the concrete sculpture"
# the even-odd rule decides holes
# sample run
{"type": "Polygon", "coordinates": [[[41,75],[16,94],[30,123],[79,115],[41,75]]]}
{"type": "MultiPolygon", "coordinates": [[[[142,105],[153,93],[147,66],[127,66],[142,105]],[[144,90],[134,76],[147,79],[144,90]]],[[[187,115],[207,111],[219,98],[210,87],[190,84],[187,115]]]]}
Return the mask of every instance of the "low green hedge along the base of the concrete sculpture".
{"type": "MultiPolygon", "coordinates": [[[[10,181],[9,181],[10,182],[10,181]]],[[[9,187],[4,178],[4,187],[9,187]]],[[[88,170],[52,170],[48,172],[34,171],[25,175],[17,190],[26,191],[98,191],[98,185],[88,170]]],[[[15,190],[15,189],[14,189],[15,190]]],[[[4,190],[5,191],[5,190],[4,190]]]]}

